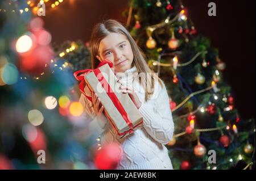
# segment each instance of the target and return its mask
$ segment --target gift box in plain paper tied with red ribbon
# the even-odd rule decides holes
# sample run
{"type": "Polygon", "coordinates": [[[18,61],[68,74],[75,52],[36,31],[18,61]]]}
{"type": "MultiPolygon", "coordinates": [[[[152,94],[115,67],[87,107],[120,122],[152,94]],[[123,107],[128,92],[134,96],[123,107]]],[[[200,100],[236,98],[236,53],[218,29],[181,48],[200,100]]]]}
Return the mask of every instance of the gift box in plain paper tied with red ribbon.
{"type": "Polygon", "coordinates": [[[117,77],[112,71],[113,64],[108,60],[101,61],[96,69],[79,70],[74,73],[75,78],[80,81],[79,88],[92,102],[92,98],[85,94],[84,88],[97,93],[104,106],[104,114],[108,117],[110,124],[121,137],[134,132],[142,126],[141,113],[128,94],[115,91],[118,85],[117,77]]]}

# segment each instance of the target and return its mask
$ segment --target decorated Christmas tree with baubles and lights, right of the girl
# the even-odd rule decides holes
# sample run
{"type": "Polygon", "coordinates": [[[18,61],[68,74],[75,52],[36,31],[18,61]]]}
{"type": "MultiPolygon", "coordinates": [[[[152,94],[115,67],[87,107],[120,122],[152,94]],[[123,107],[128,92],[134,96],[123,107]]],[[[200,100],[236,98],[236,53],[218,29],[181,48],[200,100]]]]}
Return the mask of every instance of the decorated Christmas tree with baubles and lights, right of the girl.
{"type": "Polygon", "coordinates": [[[240,117],[225,63],[196,31],[179,0],[131,0],[127,28],[166,83],[175,135],[166,146],[174,169],[251,169],[255,122],[240,117]]]}

